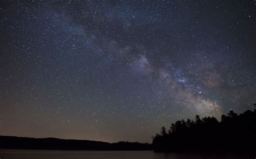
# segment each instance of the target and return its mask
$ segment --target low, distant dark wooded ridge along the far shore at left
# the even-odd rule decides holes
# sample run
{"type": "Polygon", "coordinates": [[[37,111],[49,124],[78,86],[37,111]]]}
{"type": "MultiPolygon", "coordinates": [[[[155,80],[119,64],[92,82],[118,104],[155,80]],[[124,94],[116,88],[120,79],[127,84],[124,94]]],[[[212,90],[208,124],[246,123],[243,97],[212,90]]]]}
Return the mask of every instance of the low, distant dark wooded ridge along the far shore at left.
{"type": "Polygon", "coordinates": [[[57,138],[23,138],[0,136],[0,149],[37,149],[37,150],[152,150],[151,144],[120,141],[116,143],[66,140],[57,138]]]}

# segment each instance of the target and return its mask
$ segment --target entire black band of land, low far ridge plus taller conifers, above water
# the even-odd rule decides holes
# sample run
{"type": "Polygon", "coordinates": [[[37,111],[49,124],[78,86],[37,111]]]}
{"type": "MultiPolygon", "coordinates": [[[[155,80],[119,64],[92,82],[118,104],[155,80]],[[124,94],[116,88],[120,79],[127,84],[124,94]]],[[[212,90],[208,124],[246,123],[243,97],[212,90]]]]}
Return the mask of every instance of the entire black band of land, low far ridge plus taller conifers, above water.
{"type": "Polygon", "coordinates": [[[0,149],[41,150],[154,150],[181,153],[246,153],[255,154],[256,111],[236,114],[230,111],[221,116],[194,120],[178,120],[160,134],[152,137],[152,144],[139,142],[108,143],[90,140],[57,138],[23,138],[0,136],[0,149]]]}

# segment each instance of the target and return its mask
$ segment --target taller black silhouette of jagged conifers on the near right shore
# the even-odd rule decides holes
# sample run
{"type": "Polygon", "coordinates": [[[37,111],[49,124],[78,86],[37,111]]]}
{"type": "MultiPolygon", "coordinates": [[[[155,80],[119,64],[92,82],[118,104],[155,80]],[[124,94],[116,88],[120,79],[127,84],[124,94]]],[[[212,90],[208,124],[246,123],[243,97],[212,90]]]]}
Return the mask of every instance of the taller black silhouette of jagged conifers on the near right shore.
{"type": "Polygon", "coordinates": [[[167,131],[152,136],[156,152],[247,153],[255,154],[256,112],[236,114],[232,110],[221,116],[178,120],[167,131]]]}

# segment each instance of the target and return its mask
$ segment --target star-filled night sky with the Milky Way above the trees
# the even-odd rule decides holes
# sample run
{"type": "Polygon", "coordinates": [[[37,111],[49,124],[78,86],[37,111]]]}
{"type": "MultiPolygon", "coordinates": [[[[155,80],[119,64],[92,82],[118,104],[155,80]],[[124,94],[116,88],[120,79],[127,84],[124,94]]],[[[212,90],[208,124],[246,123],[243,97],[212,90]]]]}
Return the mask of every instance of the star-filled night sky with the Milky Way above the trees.
{"type": "Polygon", "coordinates": [[[253,110],[255,1],[0,4],[0,135],[151,142],[253,110]]]}

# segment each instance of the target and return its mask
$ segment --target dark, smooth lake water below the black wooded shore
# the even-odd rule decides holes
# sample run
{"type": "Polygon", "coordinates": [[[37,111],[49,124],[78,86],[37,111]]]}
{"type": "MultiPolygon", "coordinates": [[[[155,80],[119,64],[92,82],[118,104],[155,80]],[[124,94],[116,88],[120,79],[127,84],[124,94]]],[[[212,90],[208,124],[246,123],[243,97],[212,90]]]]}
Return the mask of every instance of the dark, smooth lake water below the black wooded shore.
{"type": "Polygon", "coordinates": [[[153,151],[61,151],[61,150],[6,150],[0,149],[1,159],[84,159],[84,158],[105,158],[105,159],[190,159],[190,158],[255,158],[250,156],[238,156],[238,155],[196,155],[196,154],[164,154],[153,153],[153,151]]]}

